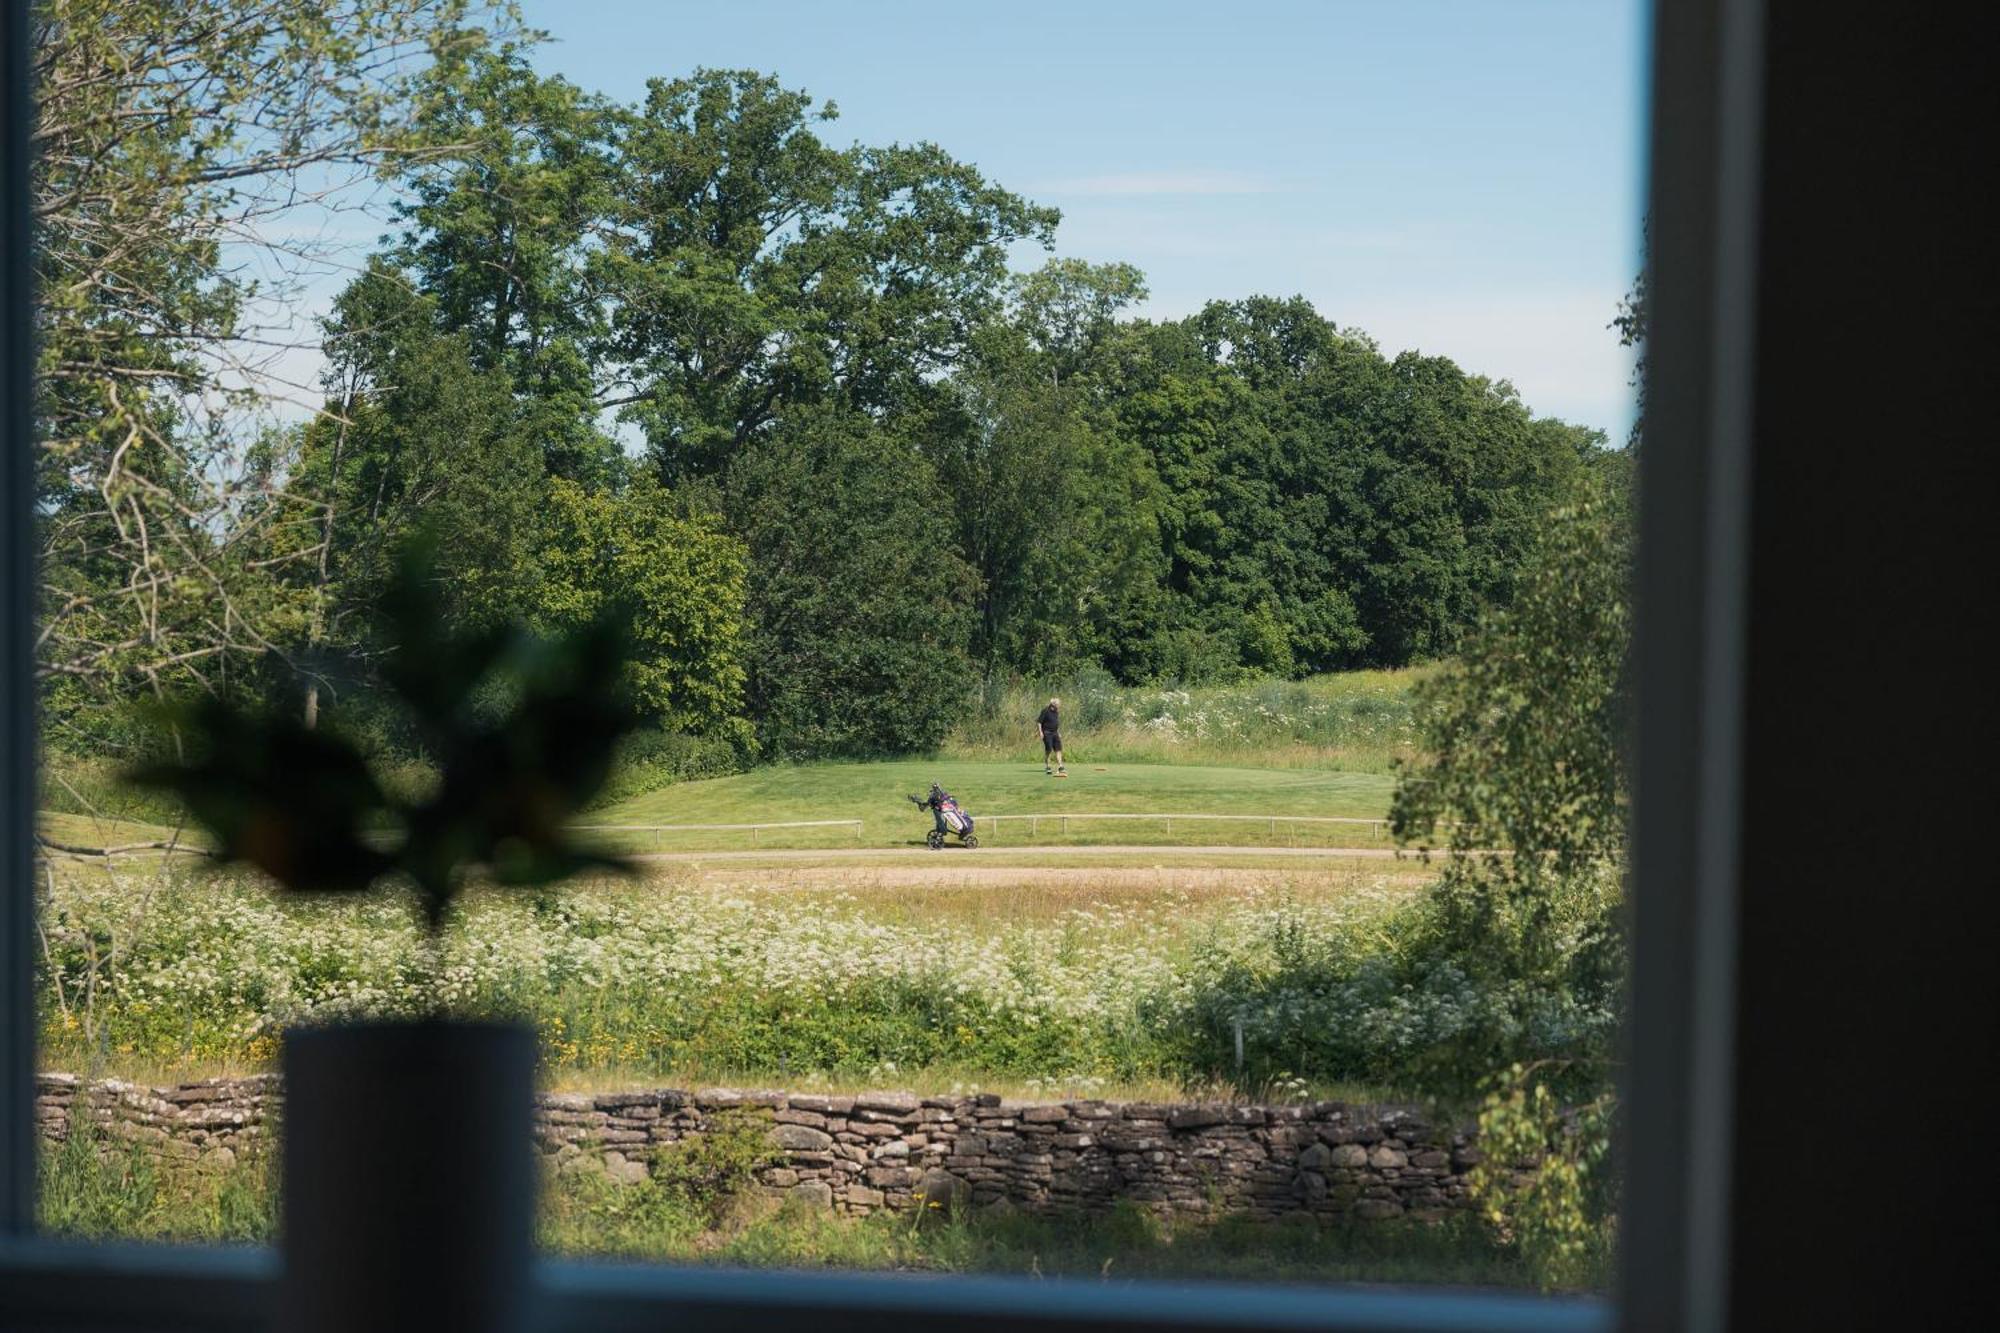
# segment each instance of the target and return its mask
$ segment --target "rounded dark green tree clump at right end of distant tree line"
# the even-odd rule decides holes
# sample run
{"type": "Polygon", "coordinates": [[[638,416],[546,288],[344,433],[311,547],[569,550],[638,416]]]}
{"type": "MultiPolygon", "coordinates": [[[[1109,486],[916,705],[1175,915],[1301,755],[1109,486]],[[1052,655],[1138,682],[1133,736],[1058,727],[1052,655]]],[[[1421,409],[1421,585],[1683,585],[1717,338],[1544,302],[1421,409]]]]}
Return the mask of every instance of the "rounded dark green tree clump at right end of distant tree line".
{"type": "MultiPolygon", "coordinates": [[[[1450,360],[1388,360],[1302,298],[1134,326],[1110,400],[1164,482],[1180,675],[1304,675],[1452,652],[1504,604],[1538,514],[1602,452],[1450,360]]],[[[1134,652],[1132,656],[1140,656],[1134,652]]]]}

